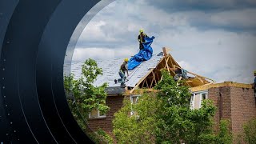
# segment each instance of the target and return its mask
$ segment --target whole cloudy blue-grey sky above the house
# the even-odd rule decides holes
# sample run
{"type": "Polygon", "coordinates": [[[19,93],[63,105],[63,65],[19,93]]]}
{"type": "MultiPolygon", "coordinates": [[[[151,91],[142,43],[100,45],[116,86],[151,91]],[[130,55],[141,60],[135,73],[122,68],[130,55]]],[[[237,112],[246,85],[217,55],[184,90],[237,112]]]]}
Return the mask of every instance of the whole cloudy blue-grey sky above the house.
{"type": "Polygon", "coordinates": [[[170,47],[186,70],[216,82],[253,82],[256,70],[255,0],[116,0],[82,31],[73,62],[130,58],[138,30],[154,36],[154,54],[170,47]]]}

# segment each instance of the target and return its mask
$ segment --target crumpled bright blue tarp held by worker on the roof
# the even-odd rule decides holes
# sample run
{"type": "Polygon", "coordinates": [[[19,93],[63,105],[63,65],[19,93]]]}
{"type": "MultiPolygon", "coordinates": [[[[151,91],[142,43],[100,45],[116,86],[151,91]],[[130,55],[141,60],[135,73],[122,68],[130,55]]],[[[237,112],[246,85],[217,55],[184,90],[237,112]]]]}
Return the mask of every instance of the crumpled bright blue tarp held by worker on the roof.
{"type": "Polygon", "coordinates": [[[146,42],[143,42],[144,49],[140,50],[138,54],[135,54],[133,58],[128,61],[128,70],[134,70],[134,68],[140,65],[143,61],[147,61],[152,57],[153,49],[150,46],[153,42],[154,36],[145,38],[146,42]]]}

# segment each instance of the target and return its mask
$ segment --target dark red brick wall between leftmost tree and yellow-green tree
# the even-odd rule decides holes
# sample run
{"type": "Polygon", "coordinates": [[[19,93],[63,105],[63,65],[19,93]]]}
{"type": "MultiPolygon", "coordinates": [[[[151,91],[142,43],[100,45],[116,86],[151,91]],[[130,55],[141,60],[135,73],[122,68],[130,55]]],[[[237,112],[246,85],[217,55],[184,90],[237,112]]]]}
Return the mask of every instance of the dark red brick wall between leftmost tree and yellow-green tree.
{"type": "Polygon", "coordinates": [[[110,111],[107,112],[106,118],[89,118],[89,126],[92,130],[98,130],[101,128],[108,134],[112,135],[113,130],[112,120],[114,113],[121,109],[123,96],[108,96],[106,98],[106,106],[110,106],[110,111]]]}

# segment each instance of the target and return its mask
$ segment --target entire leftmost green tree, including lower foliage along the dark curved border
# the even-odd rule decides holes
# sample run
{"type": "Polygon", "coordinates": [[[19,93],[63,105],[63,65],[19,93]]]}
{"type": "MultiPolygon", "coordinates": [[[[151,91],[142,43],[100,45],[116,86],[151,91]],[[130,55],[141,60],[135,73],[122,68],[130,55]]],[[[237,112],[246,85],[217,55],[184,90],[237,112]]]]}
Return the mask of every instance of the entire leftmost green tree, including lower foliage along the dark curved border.
{"type": "Polygon", "coordinates": [[[64,88],[66,94],[74,98],[73,100],[68,99],[68,103],[74,118],[82,130],[84,130],[92,140],[95,140],[96,143],[111,143],[110,137],[103,133],[103,130],[94,133],[88,129],[86,122],[91,110],[97,108],[103,114],[106,114],[106,112],[110,110],[110,108],[106,106],[105,89],[107,84],[104,83],[102,86],[93,85],[98,75],[102,75],[102,69],[98,68],[97,62],[89,58],[82,65],[82,76],[80,78],[75,79],[74,74],[64,76],[64,88]],[[102,138],[105,138],[105,140],[102,138]]]}

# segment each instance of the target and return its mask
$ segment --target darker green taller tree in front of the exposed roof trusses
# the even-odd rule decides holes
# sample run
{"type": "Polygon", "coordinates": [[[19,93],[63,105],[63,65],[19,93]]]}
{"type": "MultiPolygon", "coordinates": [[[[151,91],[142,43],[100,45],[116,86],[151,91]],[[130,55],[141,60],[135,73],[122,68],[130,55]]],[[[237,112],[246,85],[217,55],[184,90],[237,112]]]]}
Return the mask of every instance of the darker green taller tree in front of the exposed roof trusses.
{"type": "Polygon", "coordinates": [[[161,101],[157,112],[157,142],[202,143],[203,138],[213,134],[212,118],[216,108],[206,100],[200,109],[190,110],[188,87],[177,86],[166,71],[162,71],[162,76],[162,82],[155,86],[161,101]]]}

